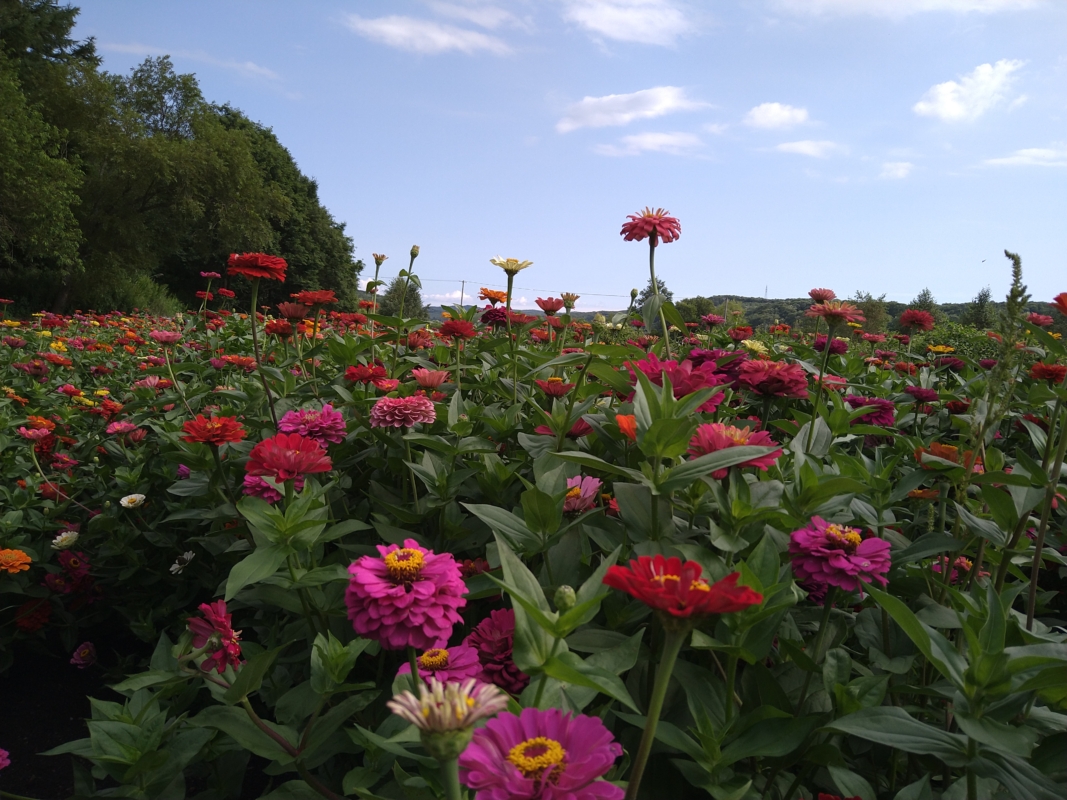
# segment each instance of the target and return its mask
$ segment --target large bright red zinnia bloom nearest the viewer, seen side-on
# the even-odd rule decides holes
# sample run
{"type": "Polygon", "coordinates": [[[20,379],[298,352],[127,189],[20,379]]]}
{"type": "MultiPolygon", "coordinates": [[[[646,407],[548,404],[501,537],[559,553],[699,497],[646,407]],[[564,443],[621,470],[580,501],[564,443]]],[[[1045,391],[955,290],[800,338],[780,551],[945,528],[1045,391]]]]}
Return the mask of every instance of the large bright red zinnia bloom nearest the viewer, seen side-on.
{"type": "Polygon", "coordinates": [[[696,561],[683,563],[673,556],[641,556],[631,561],[630,566],[609,567],[604,583],[671,618],[732,613],[763,602],[759,592],[737,586],[740,573],[731,573],[722,580],[708,583],[700,577],[701,572],[696,561]]]}

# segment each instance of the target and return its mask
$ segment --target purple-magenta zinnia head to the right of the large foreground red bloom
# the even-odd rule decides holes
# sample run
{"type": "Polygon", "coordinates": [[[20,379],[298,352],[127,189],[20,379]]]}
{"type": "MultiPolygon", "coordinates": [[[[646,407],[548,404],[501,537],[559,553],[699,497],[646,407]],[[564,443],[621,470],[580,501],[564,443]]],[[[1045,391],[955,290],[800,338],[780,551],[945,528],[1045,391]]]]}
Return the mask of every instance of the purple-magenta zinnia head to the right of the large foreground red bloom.
{"type": "Polygon", "coordinates": [[[813,516],[811,523],[790,534],[793,572],[802,581],[863,592],[863,583],[888,582],[889,542],[863,539],[859,528],[827,523],[813,516]]]}

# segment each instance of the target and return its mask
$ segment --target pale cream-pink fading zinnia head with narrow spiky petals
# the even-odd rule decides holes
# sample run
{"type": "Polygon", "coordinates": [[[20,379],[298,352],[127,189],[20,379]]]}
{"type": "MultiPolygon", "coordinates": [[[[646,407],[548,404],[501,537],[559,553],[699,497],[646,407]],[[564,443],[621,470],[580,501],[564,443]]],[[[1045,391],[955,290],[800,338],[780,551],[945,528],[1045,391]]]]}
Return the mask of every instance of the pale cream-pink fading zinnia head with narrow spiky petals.
{"type": "Polygon", "coordinates": [[[479,720],[493,717],[508,707],[508,695],[491,684],[474,678],[462,683],[427,678],[416,698],[410,691],[394,695],[385,705],[401,719],[420,731],[444,733],[474,727],[479,720]]]}

